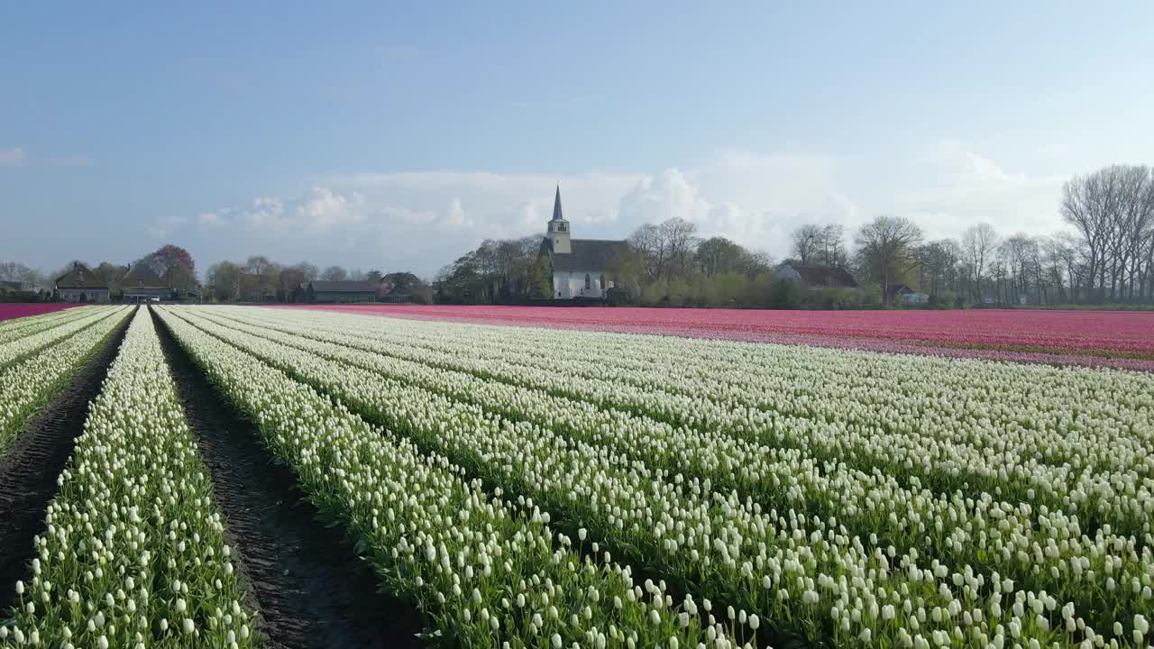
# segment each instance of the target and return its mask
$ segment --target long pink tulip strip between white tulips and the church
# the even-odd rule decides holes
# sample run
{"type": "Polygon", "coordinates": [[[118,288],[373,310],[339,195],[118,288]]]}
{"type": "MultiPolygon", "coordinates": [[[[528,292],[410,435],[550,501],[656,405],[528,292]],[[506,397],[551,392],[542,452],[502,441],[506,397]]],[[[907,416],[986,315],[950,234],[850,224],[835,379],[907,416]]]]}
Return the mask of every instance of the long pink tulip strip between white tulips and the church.
{"type": "MultiPolygon", "coordinates": [[[[301,308],[284,305],[284,308],[301,308]]],[[[417,320],[1154,370],[1154,315],[1107,311],[760,311],[460,305],[309,305],[417,320]]]]}

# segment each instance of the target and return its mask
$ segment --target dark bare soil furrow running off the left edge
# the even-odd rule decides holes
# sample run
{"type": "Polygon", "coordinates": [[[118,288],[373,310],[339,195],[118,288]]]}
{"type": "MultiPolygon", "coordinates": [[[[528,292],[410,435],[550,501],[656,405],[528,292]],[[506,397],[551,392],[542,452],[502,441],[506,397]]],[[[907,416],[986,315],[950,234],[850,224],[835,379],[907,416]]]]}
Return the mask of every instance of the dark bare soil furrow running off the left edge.
{"type": "Polygon", "coordinates": [[[72,457],[76,438],[84,432],[89,402],[100,394],[130,321],[125,319],[104,348],[28,420],[12,448],[0,456],[0,617],[16,603],[16,580],[31,576],[29,564],[36,557],[32,537],[45,529],[44,515],[57,494],[57,478],[72,457]]]}

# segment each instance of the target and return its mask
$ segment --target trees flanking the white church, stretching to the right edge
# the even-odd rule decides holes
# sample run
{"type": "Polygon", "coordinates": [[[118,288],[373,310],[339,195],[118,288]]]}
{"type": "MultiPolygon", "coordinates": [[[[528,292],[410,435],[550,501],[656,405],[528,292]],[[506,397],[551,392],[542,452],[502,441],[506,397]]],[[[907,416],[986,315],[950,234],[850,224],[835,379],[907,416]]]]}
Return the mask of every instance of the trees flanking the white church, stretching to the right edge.
{"type": "MultiPolygon", "coordinates": [[[[808,223],[789,236],[782,263],[844,268],[856,289],[797,291],[774,278],[764,252],[696,224],[645,224],[613,260],[629,301],[682,306],[855,307],[890,304],[899,286],[930,305],[1154,303],[1154,174],[1112,165],[1065,184],[1059,204],[1070,231],[1001,236],[981,223],[958,239],[927,239],[902,216],[882,215],[852,236],[839,224],[808,223]]],[[[436,299],[503,304],[548,299],[552,278],[541,237],[489,239],[437,274],[436,299]]]]}

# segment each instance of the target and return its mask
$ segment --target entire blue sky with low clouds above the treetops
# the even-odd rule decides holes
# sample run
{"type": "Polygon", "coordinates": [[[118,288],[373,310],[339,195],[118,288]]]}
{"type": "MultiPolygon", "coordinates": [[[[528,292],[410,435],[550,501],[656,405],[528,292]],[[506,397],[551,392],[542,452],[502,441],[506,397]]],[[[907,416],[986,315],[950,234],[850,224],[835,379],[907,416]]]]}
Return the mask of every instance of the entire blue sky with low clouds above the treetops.
{"type": "Polygon", "coordinates": [[[1154,3],[6,3],[0,260],[265,254],[432,275],[682,216],[1061,226],[1154,163],[1154,3]]]}

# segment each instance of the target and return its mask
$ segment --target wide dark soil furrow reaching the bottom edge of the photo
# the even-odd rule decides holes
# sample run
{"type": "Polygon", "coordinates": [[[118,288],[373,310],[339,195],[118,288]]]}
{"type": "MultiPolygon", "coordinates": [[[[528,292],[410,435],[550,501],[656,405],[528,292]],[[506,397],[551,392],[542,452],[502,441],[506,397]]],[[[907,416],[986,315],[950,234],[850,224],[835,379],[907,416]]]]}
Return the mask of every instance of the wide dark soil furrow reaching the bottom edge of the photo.
{"type": "Polygon", "coordinates": [[[379,592],[372,568],[339,528],[317,520],[292,472],[270,462],[254,426],[220,398],[155,313],[153,322],[265,647],[420,647],[417,609],[379,592]]]}

